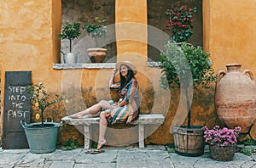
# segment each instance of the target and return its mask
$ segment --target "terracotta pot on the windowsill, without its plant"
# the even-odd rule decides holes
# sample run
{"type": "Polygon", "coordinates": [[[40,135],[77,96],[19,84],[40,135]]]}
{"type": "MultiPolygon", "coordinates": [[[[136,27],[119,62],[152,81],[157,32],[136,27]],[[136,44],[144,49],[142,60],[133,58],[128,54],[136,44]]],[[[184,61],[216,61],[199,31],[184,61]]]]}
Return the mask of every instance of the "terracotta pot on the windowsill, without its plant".
{"type": "Polygon", "coordinates": [[[106,57],[107,49],[106,48],[88,48],[87,52],[90,56],[90,61],[92,63],[102,63],[106,57]]]}

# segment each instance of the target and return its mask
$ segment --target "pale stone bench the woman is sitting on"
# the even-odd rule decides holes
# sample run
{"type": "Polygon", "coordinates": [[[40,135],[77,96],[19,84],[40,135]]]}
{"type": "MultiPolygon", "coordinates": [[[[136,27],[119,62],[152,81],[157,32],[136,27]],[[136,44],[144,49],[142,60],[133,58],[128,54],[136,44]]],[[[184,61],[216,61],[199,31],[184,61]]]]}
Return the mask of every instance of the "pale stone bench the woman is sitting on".
{"type": "MultiPolygon", "coordinates": [[[[73,126],[84,126],[84,148],[90,148],[90,125],[99,124],[99,117],[84,117],[83,119],[71,119],[65,116],[61,119],[65,124],[73,126]]],[[[144,126],[145,125],[158,125],[163,124],[165,120],[164,115],[161,114],[148,114],[139,115],[137,120],[133,120],[129,125],[138,125],[138,143],[139,148],[144,148],[144,126]]],[[[118,123],[117,123],[118,124],[118,123]]]]}

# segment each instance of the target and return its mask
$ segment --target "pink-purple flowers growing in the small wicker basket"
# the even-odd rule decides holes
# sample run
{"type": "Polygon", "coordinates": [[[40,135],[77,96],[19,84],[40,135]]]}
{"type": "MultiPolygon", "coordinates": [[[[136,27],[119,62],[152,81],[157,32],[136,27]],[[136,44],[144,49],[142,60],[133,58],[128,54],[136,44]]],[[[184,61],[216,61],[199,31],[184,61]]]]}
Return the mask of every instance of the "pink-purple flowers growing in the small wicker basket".
{"type": "Polygon", "coordinates": [[[205,143],[229,146],[237,143],[237,137],[239,132],[241,132],[241,127],[236,126],[235,129],[229,129],[226,127],[220,128],[219,126],[214,126],[212,130],[210,130],[205,126],[203,130],[205,143]]]}

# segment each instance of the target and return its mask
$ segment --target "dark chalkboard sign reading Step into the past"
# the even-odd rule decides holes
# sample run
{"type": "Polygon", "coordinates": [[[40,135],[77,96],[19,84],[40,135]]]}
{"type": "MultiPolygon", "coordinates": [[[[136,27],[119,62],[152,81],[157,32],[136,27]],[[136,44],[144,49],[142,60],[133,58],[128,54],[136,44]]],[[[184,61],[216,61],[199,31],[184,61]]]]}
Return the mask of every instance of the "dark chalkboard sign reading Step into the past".
{"type": "Polygon", "coordinates": [[[31,71],[6,71],[3,101],[3,148],[28,148],[20,120],[30,123],[31,105],[27,85],[31,71]]]}

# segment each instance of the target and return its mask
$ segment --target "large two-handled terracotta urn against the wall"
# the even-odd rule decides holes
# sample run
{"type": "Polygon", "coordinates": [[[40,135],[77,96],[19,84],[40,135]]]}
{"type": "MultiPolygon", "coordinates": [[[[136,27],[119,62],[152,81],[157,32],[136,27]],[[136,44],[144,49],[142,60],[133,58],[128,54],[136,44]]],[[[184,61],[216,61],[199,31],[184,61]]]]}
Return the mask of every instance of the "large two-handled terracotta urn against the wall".
{"type": "Polygon", "coordinates": [[[219,119],[229,128],[241,126],[247,133],[256,116],[256,87],[251,70],[240,71],[241,64],[227,64],[220,70],[215,90],[215,106],[219,119]]]}

